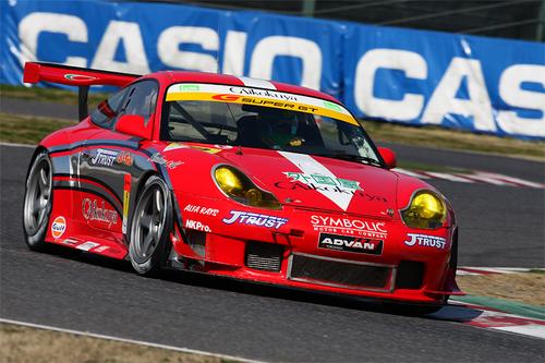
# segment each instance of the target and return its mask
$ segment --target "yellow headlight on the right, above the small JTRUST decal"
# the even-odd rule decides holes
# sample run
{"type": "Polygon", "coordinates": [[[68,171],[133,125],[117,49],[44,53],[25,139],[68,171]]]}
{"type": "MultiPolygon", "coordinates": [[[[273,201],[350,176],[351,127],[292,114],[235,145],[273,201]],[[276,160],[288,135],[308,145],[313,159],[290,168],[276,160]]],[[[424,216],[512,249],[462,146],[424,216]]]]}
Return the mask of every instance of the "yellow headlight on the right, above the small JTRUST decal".
{"type": "Polygon", "coordinates": [[[413,228],[438,228],[447,218],[447,206],[441,197],[431,191],[416,193],[408,208],[401,211],[407,226],[413,228]]]}

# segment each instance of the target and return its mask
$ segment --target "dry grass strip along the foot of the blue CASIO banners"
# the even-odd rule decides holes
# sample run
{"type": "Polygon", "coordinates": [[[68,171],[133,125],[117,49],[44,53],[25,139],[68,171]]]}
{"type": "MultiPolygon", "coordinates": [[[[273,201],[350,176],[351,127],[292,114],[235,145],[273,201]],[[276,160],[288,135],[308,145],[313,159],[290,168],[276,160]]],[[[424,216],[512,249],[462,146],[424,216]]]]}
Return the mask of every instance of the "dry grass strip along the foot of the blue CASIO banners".
{"type": "MultiPolygon", "coordinates": [[[[53,88],[27,88],[23,86],[0,85],[0,96],[77,105],[77,94],[75,92],[53,88]]],[[[93,105],[98,105],[98,102],[107,97],[108,94],[89,94],[89,109],[93,109],[93,105]]],[[[365,120],[363,124],[377,144],[388,142],[412,146],[479,152],[545,161],[545,141],[523,141],[512,137],[498,137],[458,130],[446,130],[429,125],[410,126],[365,120]]],[[[40,129],[43,126],[40,126],[40,129]]],[[[405,166],[401,165],[401,167],[405,166]]],[[[413,166],[411,168],[429,171],[448,171],[445,169],[429,169],[433,168],[432,166],[426,166],[425,168],[413,166]]]]}

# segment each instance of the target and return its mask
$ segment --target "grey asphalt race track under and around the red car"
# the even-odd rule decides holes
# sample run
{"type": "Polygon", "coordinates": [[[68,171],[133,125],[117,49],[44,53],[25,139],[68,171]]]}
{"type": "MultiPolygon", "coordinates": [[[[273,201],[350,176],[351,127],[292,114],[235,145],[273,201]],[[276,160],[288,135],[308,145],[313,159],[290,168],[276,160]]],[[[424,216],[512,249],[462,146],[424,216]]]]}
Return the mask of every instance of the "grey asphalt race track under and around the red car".
{"type": "MultiPolygon", "coordinates": [[[[408,160],[543,180],[540,162],[389,146],[408,160]]],[[[179,271],[142,278],[125,262],[63,250],[29,252],[21,214],[31,154],[0,146],[2,318],[265,361],[538,362],[545,356],[541,339],[396,315],[358,299],[179,271]]],[[[543,267],[544,190],[429,182],[458,211],[461,265],[543,267]]]]}

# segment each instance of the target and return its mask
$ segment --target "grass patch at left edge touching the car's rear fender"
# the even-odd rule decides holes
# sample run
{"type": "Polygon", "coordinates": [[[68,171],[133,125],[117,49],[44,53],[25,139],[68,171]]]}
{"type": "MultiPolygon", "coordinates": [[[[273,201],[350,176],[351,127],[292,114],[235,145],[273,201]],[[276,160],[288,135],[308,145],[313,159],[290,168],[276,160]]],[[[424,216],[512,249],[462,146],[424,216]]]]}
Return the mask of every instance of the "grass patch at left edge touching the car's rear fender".
{"type": "Polygon", "coordinates": [[[0,113],[0,141],[35,145],[49,133],[74,124],[74,121],[0,113]]]}

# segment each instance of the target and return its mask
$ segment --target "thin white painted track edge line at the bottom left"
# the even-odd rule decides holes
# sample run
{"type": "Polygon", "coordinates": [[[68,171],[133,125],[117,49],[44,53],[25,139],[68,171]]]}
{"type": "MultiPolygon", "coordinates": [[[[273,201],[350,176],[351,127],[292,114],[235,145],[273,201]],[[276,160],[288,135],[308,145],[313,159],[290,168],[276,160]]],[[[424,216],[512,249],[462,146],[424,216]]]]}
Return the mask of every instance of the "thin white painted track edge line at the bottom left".
{"type": "Polygon", "coordinates": [[[20,320],[5,319],[5,318],[1,318],[1,317],[0,317],[0,323],[15,324],[15,325],[26,326],[26,327],[31,327],[31,328],[47,329],[47,330],[53,330],[53,331],[60,331],[60,332],[68,332],[68,334],[74,334],[74,335],[77,335],[77,336],[83,336],[83,337],[90,337],[90,338],[97,338],[97,339],[107,339],[107,340],[112,340],[112,341],[119,341],[119,342],[125,342],[125,343],[132,343],[132,344],[140,344],[140,346],[152,347],[152,348],[168,349],[168,350],[173,350],[173,351],[182,352],[182,353],[191,353],[191,354],[202,354],[202,355],[207,355],[207,356],[216,356],[216,358],[220,358],[220,359],[229,360],[229,361],[240,361],[240,362],[249,362],[249,363],[262,363],[263,362],[263,361],[254,361],[254,360],[249,360],[249,359],[244,359],[244,358],[240,358],[240,356],[234,356],[234,355],[217,354],[217,353],[205,352],[205,351],[202,351],[202,350],[194,350],[194,349],[189,349],[189,348],[179,348],[179,347],[173,347],[173,346],[158,344],[158,343],[153,343],[153,342],[142,341],[142,340],[124,339],[124,338],[118,338],[118,337],[112,337],[112,336],[105,336],[105,335],[101,335],[101,334],[94,334],[94,332],[88,332],[88,331],[63,329],[63,328],[57,328],[57,327],[49,326],[49,325],[25,323],[25,322],[20,322],[20,320]]]}

